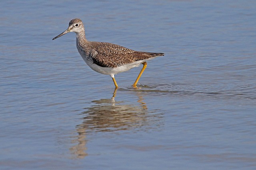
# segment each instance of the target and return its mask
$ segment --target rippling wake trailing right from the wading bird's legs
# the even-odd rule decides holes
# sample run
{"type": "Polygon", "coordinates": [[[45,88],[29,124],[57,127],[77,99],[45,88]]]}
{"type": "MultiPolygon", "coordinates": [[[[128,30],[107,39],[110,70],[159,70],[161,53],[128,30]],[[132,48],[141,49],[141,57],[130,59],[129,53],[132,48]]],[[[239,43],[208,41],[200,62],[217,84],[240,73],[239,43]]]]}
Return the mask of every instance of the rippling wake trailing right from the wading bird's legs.
{"type": "MultiPolygon", "coordinates": [[[[209,85],[208,85],[209,86],[209,85]]],[[[133,91],[144,92],[148,94],[164,95],[172,94],[178,96],[195,96],[198,98],[220,98],[230,100],[255,100],[256,88],[251,85],[248,86],[236,86],[229,89],[219,88],[214,86],[207,87],[207,84],[201,86],[194,86],[192,84],[182,83],[170,83],[170,84],[138,84],[138,89],[132,87],[120,88],[120,91],[133,91]],[[203,87],[200,89],[200,87],[203,87]]]]}

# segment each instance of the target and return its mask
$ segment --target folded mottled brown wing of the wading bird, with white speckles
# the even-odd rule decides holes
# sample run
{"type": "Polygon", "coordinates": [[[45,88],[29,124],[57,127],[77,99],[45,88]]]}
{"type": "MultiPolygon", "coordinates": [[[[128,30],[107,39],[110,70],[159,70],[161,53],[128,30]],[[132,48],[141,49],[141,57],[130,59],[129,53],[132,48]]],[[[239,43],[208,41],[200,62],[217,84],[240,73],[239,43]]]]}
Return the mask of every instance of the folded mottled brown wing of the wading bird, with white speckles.
{"type": "Polygon", "coordinates": [[[97,52],[92,61],[98,66],[115,68],[120,65],[164,55],[163,53],[146,53],[127,49],[111,43],[91,42],[97,52]]]}

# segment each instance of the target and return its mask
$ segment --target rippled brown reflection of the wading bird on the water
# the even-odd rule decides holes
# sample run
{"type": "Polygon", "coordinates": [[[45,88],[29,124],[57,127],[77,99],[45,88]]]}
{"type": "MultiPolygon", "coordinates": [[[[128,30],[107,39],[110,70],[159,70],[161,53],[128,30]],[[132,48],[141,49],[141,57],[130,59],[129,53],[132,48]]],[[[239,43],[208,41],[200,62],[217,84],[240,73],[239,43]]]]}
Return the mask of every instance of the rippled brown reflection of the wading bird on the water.
{"type": "MultiPolygon", "coordinates": [[[[157,115],[147,114],[148,109],[144,98],[138,96],[138,104],[124,104],[124,101],[115,101],[115,89],[111,99],[92,101],[93,106],[85,108],[83,122],[76,126],[78,136],[73,141],[78,143],[70,148],[77,158],[84,158],[86,153],[86,133],[124,131],[151,125],[159,119],[157,115]]],[[[139,94],[139,93],[138,93],[139,94]]],[[[145,128],[146,130],[147,128],[145,128]]]]}

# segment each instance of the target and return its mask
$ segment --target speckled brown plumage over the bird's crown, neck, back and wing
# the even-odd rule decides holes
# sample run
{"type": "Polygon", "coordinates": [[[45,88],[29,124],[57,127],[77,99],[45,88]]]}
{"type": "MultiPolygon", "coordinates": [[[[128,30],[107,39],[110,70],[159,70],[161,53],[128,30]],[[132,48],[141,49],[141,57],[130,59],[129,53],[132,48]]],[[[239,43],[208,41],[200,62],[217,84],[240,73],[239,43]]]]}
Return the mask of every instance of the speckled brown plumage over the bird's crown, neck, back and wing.
{"type": "Polygon", "coordinates": [[[84,59],[91,60],[98,66],[116,68],[124,64],[164,55],[164,53],[134,51],[112,43],[87,41],[82,21],[73,19],[69,25],[74,23],[79,23],[81,27],[80,31],[76,33],[78,52],[84,59]]]}

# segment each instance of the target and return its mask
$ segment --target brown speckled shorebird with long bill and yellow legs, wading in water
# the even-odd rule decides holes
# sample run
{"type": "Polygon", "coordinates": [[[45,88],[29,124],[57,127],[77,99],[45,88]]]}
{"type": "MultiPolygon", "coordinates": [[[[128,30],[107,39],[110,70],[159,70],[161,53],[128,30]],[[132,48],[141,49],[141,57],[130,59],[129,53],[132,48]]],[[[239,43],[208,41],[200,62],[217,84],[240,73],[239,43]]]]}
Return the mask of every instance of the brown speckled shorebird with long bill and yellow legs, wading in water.
{"type": "Polygon", "coordinates": [[[87,41],[84,24],[79,18],[71,20],[68,29],[52,40],[69,32],[76,33],[76,47],[85,63],[96,72],[110,75],[116,88],[118,88],[118,85],[114,77],[115,74],[128,71],[143,64],[142,70],[134,84],[132,84],[134,88],[137,88],[140,76],[146,69],[146,61],[164,55],[164,53],[134,51],[112,43],[87,41]]]}

